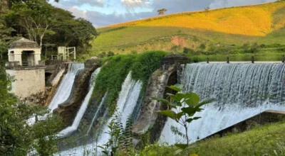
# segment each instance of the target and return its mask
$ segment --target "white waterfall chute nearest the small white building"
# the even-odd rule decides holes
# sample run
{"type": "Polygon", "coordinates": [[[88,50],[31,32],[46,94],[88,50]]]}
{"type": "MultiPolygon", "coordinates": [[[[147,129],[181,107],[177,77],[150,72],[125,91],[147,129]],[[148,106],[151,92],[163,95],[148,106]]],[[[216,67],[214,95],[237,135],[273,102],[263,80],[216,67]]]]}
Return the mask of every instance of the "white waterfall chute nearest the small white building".
{"type": "Polygon", "coordinates": [[[51,103],[48,105],[48,108],[51,109],[51,111],[56,109],[58,104],[61,104],[68,99],[69,95],[71,94],[76,73],[83,68],[83,63],[73,63],[68,65],[68,72],[63,77],[61,84],[56,90],[56,94],[53,96],[51,103]]]}

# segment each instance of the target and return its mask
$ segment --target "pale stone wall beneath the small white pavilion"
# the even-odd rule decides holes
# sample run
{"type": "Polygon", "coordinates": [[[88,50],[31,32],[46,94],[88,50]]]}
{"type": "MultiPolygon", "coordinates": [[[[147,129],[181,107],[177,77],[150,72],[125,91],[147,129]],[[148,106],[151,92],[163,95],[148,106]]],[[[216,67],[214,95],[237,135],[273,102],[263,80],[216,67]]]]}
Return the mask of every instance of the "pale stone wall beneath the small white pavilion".
{"type": "Polygon", "coordinates": [[[22,99],[45,91],[44,68],[6,69],[6,72],[16,79],[11,92],[22,99]]]}

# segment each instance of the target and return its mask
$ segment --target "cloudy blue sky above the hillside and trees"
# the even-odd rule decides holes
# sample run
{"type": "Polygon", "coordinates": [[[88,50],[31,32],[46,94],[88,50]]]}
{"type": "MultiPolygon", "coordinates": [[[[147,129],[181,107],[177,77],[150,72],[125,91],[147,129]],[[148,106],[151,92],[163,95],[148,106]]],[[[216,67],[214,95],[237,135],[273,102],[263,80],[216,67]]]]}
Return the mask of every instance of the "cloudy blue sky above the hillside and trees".
{"type": "Polygon", "coordinates": [[[157,16],[158,9],[167,9],[165,15],[185,11],[219,9],[229,6],[263,4],[276,0],[60,0],[49,3],[71,11],[76,18],[86,18],[95,28],[125,21],[157,16]]]}

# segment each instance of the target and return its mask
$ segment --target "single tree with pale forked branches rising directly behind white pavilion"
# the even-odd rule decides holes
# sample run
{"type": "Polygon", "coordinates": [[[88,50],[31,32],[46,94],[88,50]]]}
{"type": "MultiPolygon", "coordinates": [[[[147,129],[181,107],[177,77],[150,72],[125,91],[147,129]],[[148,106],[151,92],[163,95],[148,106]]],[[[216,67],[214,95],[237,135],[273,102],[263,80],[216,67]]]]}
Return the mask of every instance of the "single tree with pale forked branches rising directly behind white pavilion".
{"type": "Polygon", "coordinates": [[[53,13],[53,6],[41,0],[13,4],[9,16],[17,18],[17,24],[24,28],[27,37],[40,47],[45,35],[55,34],[53,29],[58,24],[58,15],[53,13]]]}

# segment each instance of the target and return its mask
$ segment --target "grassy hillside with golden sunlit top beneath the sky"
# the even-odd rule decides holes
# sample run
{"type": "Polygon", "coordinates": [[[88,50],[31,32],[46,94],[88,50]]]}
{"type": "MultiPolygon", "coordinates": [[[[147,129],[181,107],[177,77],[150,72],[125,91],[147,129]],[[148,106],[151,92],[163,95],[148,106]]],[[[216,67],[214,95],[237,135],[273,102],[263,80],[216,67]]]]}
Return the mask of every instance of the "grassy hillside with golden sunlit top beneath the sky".
{"type": "Polygon", "coordinates": [[[217,46],[239,49],[237,46],[244,43],[283,45],[284,24],[284,1],[175,13],[98,28],[100,35],[93,40],[91,51],[92,54],[145,50],[182,52],[183,48],[210,51],[217,46]]]}

